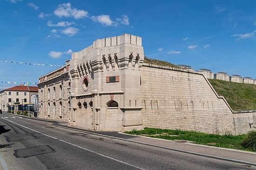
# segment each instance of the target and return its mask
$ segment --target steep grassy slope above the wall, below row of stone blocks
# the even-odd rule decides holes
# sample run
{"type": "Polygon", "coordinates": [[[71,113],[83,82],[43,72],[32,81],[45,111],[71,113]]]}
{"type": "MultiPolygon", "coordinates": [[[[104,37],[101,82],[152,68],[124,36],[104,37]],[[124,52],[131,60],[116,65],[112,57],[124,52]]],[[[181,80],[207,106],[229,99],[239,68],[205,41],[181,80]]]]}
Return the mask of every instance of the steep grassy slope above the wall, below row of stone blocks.
{"type": "Polygon", "coordinates": [[[209,82],[234,111],[256,110],[256,85],[216,79],[209,79],[209,82]]]}

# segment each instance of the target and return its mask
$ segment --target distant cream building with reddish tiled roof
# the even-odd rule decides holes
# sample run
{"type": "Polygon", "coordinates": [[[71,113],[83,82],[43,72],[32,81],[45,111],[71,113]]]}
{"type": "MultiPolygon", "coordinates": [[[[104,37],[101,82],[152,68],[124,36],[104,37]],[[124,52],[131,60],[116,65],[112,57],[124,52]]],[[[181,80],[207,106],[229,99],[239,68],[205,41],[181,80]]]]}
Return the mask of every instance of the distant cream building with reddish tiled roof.
{"type": "Polygon", "coordinates": [[[8,111],[8,107],[13,106],[15,102],[20,102],[20,105],[22,105],[22,103],[24,105],[34,104],[33,101],[31,101],[33,94],[38,95],[37,86],[16,85],[2,90],[0,92],[0,108],[2,111],[8,111]]]}

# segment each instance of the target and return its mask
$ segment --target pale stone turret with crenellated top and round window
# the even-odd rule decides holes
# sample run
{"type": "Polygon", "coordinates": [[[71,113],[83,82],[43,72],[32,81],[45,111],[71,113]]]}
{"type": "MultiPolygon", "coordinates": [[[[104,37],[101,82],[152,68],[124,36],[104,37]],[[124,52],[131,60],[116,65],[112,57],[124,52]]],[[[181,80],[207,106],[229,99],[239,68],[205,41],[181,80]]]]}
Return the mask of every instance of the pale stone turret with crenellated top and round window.
{"type": "Polygon", "coordinates": [[[102,131],[142,129],[143,61],[141,37],[130,34],[96,39],[91,46],[74,52],[70,61],[70,123],[102,131]]]}

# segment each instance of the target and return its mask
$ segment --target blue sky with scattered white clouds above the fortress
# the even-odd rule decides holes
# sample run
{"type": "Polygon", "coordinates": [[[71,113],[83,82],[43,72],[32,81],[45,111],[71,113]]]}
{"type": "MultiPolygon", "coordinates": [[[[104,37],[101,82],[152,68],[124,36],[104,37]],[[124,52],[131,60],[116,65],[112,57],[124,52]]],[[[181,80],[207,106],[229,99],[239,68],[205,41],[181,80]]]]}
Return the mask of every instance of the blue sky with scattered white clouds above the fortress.
{"type": "MultiPolygon", "coordinates": [[[[95,39],[142,37],[149,58],[256,78],[255,0],[0,0],[0,60],[63,65],[95,39]]],[[[54,66],[0,63],[0,89],[54,66]]]]}

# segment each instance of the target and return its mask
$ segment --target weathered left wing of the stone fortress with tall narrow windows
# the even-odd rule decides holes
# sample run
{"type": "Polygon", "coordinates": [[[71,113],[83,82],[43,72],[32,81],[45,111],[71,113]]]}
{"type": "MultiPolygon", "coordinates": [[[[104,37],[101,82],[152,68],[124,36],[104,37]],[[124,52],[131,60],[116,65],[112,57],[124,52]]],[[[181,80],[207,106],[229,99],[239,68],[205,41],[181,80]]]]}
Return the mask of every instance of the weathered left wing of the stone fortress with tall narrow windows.
{"type": "Polygon", "coordinates": [[[39,78],[39,116],[69,120],[69,60],[63,67],[39,78]]]}

